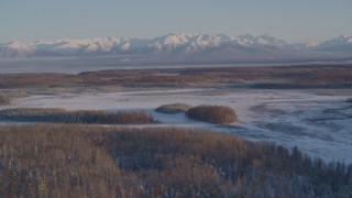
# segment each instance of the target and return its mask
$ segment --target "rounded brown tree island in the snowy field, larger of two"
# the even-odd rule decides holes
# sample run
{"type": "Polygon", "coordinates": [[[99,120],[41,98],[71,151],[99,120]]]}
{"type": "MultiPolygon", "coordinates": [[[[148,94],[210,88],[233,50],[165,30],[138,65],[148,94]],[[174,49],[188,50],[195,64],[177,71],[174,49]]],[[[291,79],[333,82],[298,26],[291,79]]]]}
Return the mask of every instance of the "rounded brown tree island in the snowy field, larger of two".
{"type": "Polygon", "coordinates": [[[216,124],[229,124],[238,121],[234,110],[226,106],[198,106],[188,109],[186,116],[193,120],[216,124]]]}

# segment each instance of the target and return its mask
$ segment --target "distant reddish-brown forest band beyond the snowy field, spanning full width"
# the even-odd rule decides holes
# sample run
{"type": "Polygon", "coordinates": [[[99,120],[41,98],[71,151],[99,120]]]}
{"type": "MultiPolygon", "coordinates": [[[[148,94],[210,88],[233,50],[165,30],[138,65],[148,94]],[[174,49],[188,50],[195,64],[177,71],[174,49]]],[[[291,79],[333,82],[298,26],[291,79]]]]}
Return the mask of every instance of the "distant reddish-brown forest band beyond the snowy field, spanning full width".
{"type": "Polygon", "coordinates": [[[0,88],[216,87],[261,81],[253,88],[351,88],[351,65],[131,69],[65,74],[0,74],[0,88]]]}

